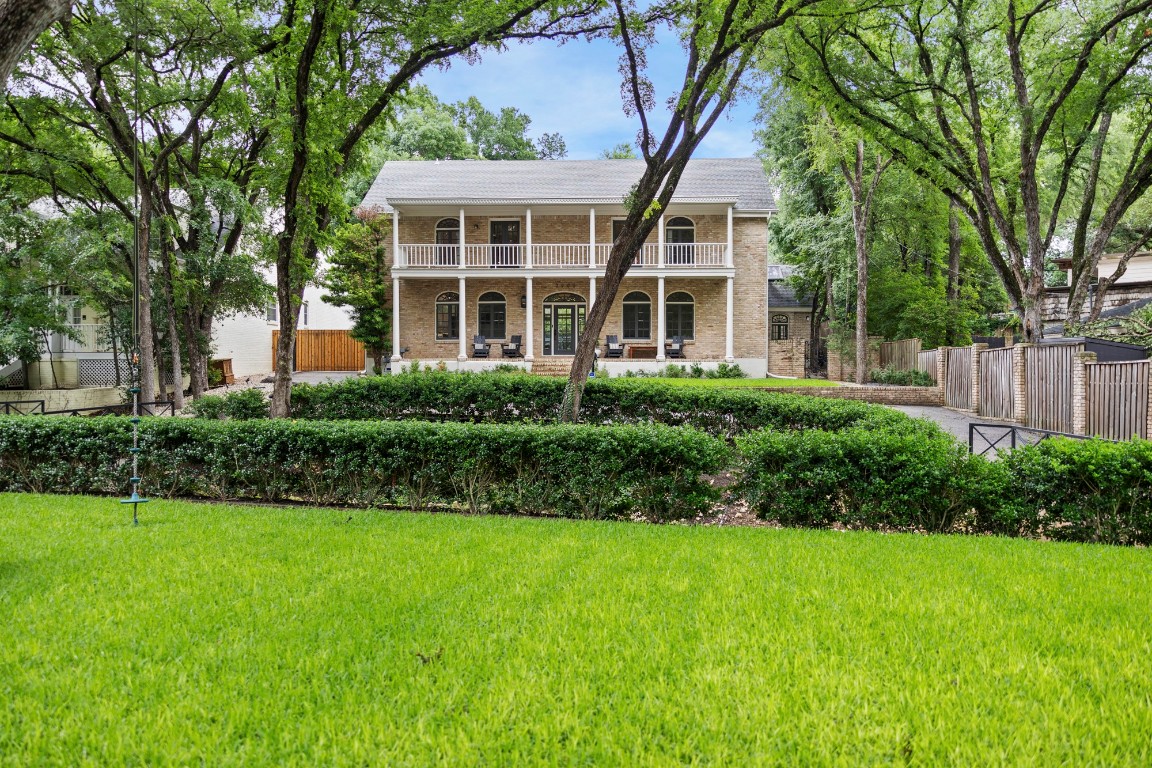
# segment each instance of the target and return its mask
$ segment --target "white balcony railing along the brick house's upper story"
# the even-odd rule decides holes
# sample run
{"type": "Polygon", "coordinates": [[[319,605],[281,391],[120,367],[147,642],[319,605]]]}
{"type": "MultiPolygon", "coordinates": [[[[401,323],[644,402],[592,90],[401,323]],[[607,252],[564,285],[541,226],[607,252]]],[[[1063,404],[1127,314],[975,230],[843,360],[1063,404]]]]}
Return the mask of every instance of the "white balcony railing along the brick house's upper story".
{"type": "MultiPolygon", "coordinates": [[[[667,267],[723,267],[726,265],[726,243],[666,243],[664,246],[664,265],[667,267]]],[[[602,267],[608,263],[612,245],[598,243],[596,265],[602,267]]],[[[401,266],[422,269],[456,269],[468,268],[524,268],[529,264],[528,245],[435,245],[415,244],[401,245],[401,266]],[[463,251],[463,265],[461,265],[463,251]]],[[[544,268],[588,268],[589,245],[585,243],[533,243],[531,246],[531,264],[544,268]]],[[[654,267],[660,264],[660,246],[646,243],[632,264],[635,267],[654,267]]]]}

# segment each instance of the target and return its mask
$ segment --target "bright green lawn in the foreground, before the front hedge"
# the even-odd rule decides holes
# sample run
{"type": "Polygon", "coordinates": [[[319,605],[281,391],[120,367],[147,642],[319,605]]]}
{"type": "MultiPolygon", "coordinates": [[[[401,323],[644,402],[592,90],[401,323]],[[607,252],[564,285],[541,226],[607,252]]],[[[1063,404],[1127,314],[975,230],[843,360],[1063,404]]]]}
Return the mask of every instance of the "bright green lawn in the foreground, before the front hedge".
{"type": "Polygon", "coordinates": [[[1150,553],[0,495],[0,765],[1152,763],[1150,553]]]}

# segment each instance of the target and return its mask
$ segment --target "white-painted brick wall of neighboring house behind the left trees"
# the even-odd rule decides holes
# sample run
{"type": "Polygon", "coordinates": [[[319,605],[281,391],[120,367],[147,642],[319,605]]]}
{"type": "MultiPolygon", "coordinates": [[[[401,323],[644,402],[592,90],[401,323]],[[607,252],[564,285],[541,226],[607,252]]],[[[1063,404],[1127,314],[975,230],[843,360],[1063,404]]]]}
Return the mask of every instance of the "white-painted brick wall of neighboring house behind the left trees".
{"type": "MultiPolygon", "coordinates": [[[[268,272],[265,279],[275,284],[268,272]]],[[[348,307],[328,304],[321,296],[323,288],[304,288],[297,330],[351,330],[353,318],[348,307]]],[[[232,372],[237,377],[268,375],[272,373],[272,332],[280,329],[280,310],[273,302],[264,314],[236,314],[215,322],[212,334],[212,359],[230,359],[232,372]]],[[[363,363],[361,365],[363,370],[363,363]]]]}

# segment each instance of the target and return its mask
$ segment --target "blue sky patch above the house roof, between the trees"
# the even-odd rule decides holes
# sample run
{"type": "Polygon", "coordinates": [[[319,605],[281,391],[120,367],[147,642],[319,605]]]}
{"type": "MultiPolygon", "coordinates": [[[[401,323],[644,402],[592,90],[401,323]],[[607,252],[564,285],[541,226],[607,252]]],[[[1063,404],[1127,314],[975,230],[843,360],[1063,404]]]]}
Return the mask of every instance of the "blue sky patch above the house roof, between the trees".
{"type": "MultiPolygon", "coordinates": [[[[649,76],[657,92],[659,115],[653,130],[662,135],[672,96],[684,71],[684,53],[668,32],[649,52],[649,76]]],[[[612,40],[566,45],[513,45],[488,53],[475,66],[457,61],[447,70],[431,70],[420,79],[441,101],[477,97],[492,111],[516,107],[532,119],[531,136],[559,132],[573,160],[596,158],[621,142],[634,143],[639,122],[626,117],[620,101],[620,50],[612,40]]],[[[741,97],[696,151],[699,158],[742,158],[756,152],[752,139],[756,100],[741,97]]]]}

